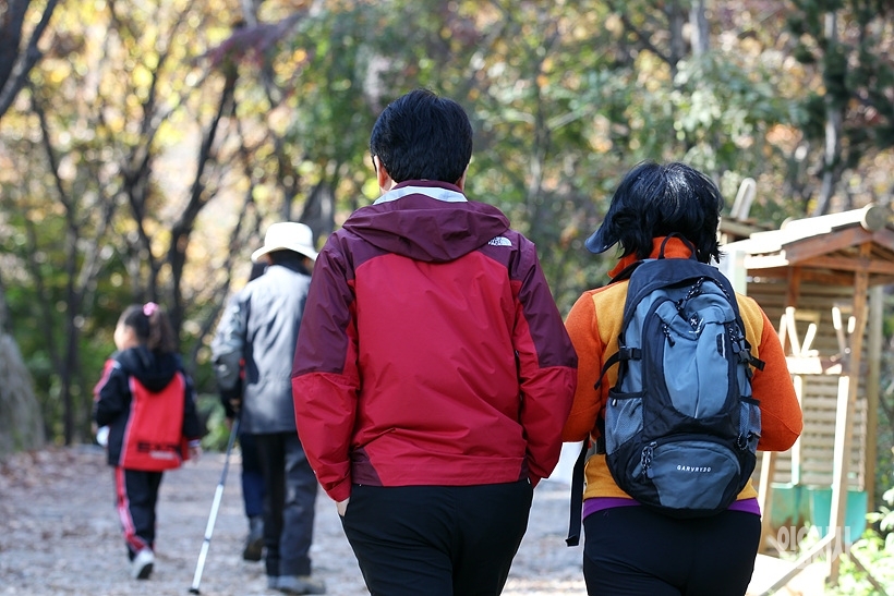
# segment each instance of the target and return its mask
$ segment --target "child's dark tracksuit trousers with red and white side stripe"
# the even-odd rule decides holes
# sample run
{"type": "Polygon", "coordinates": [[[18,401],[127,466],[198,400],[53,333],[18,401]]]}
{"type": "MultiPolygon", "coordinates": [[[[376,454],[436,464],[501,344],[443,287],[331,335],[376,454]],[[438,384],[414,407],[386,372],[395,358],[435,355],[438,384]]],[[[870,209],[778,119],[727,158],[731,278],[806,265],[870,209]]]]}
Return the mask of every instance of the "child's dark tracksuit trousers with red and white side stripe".
{"type": "Polygon", "coordinates": [[[144,548],[155,547],[155,508],[162,473],[119,466],[113,472],[118,519],[124,533],[128,558],[133,560],[144,548]]]}

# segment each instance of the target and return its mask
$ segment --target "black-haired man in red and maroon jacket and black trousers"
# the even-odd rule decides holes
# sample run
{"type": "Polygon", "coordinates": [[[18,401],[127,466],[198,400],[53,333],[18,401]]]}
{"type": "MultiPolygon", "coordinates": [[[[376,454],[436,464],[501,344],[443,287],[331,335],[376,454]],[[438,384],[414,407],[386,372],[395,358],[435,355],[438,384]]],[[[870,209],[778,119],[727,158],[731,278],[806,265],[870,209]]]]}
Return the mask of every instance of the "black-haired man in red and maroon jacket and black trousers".
{"type": "Polygon", "coordinates": [[[370,149],[382,196],[311,282],[299,435],[371,594],[496,595],[558,461],[577,355],[534,244],[463,194],[458,104],[398,98],[370,149]]]}

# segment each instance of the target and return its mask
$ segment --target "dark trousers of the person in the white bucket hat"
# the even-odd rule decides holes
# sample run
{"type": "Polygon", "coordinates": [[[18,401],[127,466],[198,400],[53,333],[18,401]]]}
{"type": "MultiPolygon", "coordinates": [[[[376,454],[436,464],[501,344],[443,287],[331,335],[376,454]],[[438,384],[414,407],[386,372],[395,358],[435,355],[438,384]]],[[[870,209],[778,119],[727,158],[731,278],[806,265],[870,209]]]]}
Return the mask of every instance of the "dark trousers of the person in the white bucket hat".
{"type": "Polygon", "coordinates": [[[267,575],[310,575],[317,482],[298,434],[255,435],[264,472],[267,575]]]}

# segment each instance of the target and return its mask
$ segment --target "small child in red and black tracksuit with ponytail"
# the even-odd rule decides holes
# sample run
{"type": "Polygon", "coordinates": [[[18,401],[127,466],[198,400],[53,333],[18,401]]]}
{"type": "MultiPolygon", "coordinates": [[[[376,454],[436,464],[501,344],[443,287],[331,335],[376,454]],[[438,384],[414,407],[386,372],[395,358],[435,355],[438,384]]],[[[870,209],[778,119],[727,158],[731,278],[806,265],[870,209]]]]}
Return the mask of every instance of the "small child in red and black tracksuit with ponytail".
{"type": "Polygon", "coordinates": [[[149,302],[129,306],[114,329],[118,351],[94,389],[94,417],[108,426],[118,515],[133,576],[155,562],[156,503],[165,470],[201,453],[201,423],[167,315],[149,302]]]}

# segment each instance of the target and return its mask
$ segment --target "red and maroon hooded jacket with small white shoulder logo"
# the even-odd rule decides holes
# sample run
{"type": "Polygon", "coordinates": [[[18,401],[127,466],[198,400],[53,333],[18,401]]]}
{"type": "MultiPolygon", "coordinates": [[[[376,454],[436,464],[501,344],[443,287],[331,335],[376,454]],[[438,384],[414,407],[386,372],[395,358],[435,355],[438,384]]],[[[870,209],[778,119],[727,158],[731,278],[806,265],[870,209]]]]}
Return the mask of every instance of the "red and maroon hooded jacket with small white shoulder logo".
{"type": "Polygon", "coordinates": [[[292,390],[323,488],[551,474],[577,355],[535,246],[459,187],[398,184],[317,257],[292,390]]]}

